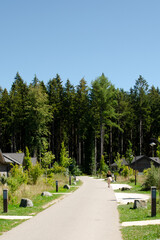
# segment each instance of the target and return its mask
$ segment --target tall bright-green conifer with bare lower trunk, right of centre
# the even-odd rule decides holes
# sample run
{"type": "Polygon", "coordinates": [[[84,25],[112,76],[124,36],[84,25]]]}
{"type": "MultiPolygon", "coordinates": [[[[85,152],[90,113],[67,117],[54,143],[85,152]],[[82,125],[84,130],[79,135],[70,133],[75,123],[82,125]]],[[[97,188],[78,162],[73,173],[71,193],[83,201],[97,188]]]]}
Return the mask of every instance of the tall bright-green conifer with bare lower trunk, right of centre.
{"type": "MultiPolygon", "coordinates": [[[[93,117],[95,118],[95,137],[99,137],[100,130],[100,159],[104,155],[104,137],[107,127],[117,127],[115,120],[115,89],[108,79],[102,74],[92,82],[91,99],[93,107],[93,117]]],[[[106,133],[106,134],[105,134],[106,133]]],[[[96,142],[96,141],[95,141],[96,142]]],[[[95,148],[95,152],[97,152],[95,148]]]]}

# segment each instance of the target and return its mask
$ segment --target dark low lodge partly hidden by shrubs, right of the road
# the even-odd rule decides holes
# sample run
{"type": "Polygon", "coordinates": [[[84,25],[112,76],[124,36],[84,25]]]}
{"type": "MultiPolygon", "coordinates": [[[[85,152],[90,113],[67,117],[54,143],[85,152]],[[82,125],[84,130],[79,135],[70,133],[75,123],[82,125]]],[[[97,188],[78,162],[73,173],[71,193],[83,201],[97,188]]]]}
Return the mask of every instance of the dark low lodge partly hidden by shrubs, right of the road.
{"type": "MultiPolygon", "coordinates": [[[[128,163],[125,161],[125,159],[122,160],[122,165],[128,166],[128,163]]],[[[133,158],[131,168],[136,169],[139,172],[143,172],[144,169],[151,167],[151,163],[153,163],[155,167],[160,167],[160,159],[158,157],[147,157],[145,155],[136,156],[133,158]]],[[[116,163],[111,164],[111,167],[114,170],[117,167],[116,163]]]]}

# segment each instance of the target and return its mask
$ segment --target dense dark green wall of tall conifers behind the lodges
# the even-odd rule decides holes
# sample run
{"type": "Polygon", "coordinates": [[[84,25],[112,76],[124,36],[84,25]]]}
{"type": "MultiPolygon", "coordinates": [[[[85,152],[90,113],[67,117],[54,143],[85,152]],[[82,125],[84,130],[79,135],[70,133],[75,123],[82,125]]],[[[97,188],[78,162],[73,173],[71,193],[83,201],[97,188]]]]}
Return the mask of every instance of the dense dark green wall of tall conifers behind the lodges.
{"type": "Polygon", "coordinates": [[[27,85],[19,73],[11,90],[0,88],[0,149],[25,151],[41,159],[47,149],[60,159],[64,143],[82,170],[98,168],[102,155],[107,164],[132,143],[133,153],[151,156],[151,138],[160,136],[160,90],[139,76],[129,92],[116,89],[102,74],[87,86],[60,76],[45,85],[35,76],[27,85]]]}

